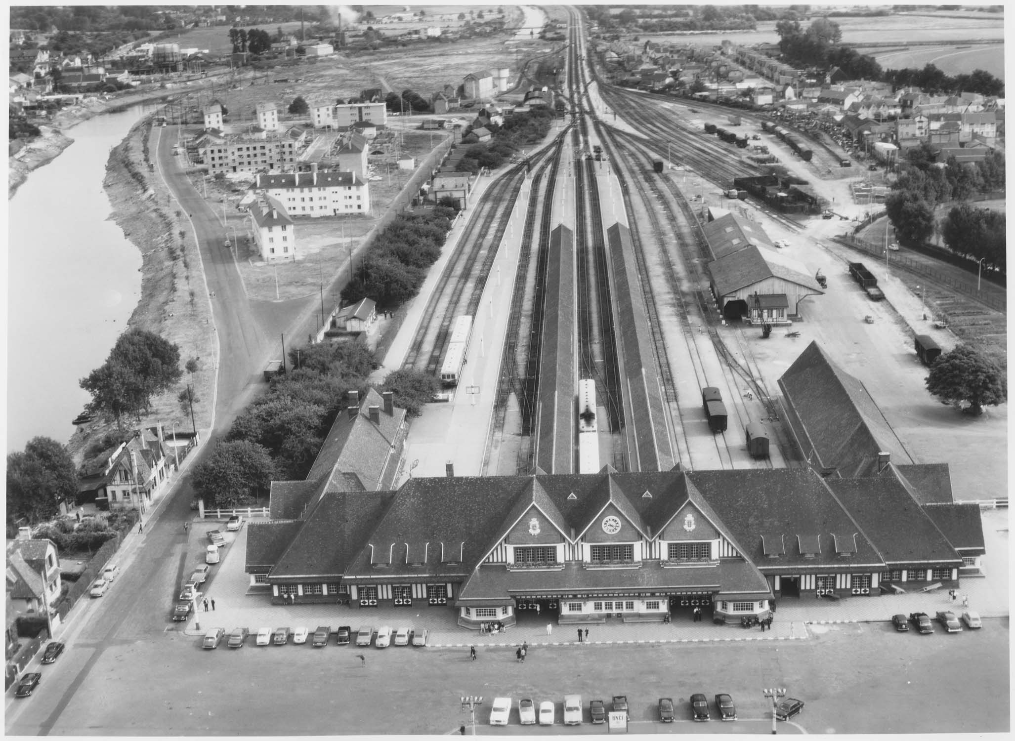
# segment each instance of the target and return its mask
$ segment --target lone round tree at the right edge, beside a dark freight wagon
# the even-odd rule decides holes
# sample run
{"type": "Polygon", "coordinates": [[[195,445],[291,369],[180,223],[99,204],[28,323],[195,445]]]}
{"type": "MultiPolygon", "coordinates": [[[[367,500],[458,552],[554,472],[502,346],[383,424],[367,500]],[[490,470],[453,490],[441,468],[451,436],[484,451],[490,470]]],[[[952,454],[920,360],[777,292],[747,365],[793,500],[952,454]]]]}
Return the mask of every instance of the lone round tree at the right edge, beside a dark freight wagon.
{"type": "Polygon", "coordinates": [[[983,414],[985,406],[1008,400],[1005,372],[968,345],[959,345],[934,361],[927,390],[945,403],[968,402],[969,413],[975,415],[983,414]]]}

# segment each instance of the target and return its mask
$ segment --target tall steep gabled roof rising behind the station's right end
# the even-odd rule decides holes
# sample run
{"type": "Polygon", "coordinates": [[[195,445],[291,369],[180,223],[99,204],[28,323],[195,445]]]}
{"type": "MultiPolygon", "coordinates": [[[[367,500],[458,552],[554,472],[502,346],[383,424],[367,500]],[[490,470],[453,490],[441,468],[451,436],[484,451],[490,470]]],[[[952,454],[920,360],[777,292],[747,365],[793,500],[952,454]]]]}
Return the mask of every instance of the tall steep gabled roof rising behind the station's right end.
{"type": "Polygon", "coordinates": [[[779,386],[803,427],[795,431],[812,465],[854,477],[876,473],[882,451],[896,463],[912,463],[863,383],[833,363],[817,342],[807,346],[779,386]]]}

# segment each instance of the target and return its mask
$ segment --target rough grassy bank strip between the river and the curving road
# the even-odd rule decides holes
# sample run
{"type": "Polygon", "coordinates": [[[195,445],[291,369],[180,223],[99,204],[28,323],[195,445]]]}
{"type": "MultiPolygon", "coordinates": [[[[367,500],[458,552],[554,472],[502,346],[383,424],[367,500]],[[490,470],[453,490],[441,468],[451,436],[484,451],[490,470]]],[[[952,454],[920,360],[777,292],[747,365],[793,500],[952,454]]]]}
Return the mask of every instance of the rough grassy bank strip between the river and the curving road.
{"type": "MultiPolygon", "coordinates": [[[[153,332],[180,347],[181,364],[195,359],[197,369],[186,372],[178,388],[152,399],[139,426],[161,422],[166,430],[176,422],[191,429],[190,410],[178,395],[190,385],[196,396],[194,424],[205,433],[211,426],[218,348],[205,290],[204,269],[190,222],[153,166],[160,129],[148,117],[136,124],[110,152],[104,189],[110,199],[110,219],[141,253],[141,296],[127,323],[129,329],[153,332]]],[[[72,435],[72,455],[114,426],[96,422],[72,435]]]]}

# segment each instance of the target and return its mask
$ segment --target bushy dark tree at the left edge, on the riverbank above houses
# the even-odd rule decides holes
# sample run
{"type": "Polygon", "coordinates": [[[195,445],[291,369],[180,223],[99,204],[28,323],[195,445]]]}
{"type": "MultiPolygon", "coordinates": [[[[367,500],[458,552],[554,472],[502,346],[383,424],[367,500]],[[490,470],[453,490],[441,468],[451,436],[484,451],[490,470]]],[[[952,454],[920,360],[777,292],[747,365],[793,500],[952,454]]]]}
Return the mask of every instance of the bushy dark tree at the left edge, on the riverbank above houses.
{"type": "Polygon", "coordinates": [[[67,449],[52,437],[32,437],[23,453],[7,455],[7,519],[35,524],[75,501],[77,471],[67,449]]]}

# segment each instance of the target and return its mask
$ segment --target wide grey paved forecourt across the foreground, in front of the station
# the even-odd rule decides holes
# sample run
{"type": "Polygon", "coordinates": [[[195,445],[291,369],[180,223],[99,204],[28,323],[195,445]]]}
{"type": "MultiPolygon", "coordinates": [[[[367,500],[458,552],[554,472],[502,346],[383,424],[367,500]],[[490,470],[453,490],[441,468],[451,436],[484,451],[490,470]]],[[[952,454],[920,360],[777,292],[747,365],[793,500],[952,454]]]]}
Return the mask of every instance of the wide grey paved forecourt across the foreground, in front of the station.
{"type": "MultiPolygon", "coordinates": [[[[182,541],[182,529],[158,538],[166,574],[182,541]]],[[[170,595],[147,595],[138,577],[126,575],[135,581],[109,593],[138,591],[144,599],[135,608],[118,614],[108,609],[112,602],[96,605],[100,619],[92,621],[90,641],[82,635],[45,667],[30,698],[8,700],[7,733],[445,734],[468,722],[460,697],[470,694],[484,698],[476,714],[482,733],[490,731],[490,701],[506,695],[516,703],[505,729],[513,735],[550,730],[518,726],[520,697],[555,702],[554,733],[605,734],[589,725],[588,702],[609,703],[613,694],[627,695],[635,733],[767,733],[765,687],[786,687],[807,703],[791,724],[780,724],[781,732],[1009,729],[1007,619],[957,634],[896,633],[881,622],[812,626],[825,632],[792,643],[534,647],[524,664],[510,649],[481,650],[475,662],[464,649],[257,648],[253,638],[239,650],[202,651],[197,637],[157,630],[164,615],[152,618],[141,605],[167,607],[170,595]],[[582,695],[586,723],[565,730],[561,700],[572,692],[582,695]],[[693,692],[709,702],[729,692],[740,721],[656,722],[660,696],[672,697],[683,719],[693,692]]]]}

